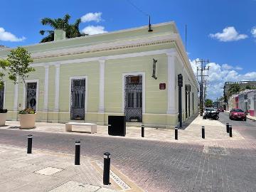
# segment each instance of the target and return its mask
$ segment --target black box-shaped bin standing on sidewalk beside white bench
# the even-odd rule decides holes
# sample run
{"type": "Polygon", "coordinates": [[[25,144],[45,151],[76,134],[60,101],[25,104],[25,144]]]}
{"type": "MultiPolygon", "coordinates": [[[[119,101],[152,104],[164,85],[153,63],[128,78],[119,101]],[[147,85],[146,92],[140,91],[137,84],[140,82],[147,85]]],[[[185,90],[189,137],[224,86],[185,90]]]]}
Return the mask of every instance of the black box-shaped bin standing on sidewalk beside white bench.
{"type": "Polygon", "coordinates": [[[125,134],[126,134],[125,116],[110,115],[108,117],[108,134],[125,137],[125,134]]]}

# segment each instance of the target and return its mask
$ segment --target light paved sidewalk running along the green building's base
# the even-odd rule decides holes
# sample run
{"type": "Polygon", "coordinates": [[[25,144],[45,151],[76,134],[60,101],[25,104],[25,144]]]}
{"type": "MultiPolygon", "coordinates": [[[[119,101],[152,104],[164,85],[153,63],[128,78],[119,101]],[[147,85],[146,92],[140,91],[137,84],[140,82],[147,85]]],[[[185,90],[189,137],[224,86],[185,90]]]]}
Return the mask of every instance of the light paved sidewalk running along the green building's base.
{"type": "MultiPolygon", "coordinates": [[[[19,122],[6,122],[6,127],[0,129],[18,129],[19,122]]],[[[112,137],[108,135],[107,126],[97,125],[97,133],[90,134],[90,127],[76,127],[73,126],[74,132],[65,132],[65,124],[60,123],[46,123],[36,122],[35,129],[29,129],[34,132],[54,132],[60,134],[80,134],[90,135],[92,137],[112,137]]],[[[26,129],[23,129],[26,132],[26,129]]],[[[243,137],[236,131],[233,131],[233,137],[229,137],[226,133],[225,125],[221,122],[212,119],[202,119],[198,116],[194,119],[186,129],[178,130],[178,140],[174,140],[174,129],[157,129],[145,127],[145,137],[142,138],[140,127],[127,127],[126,137],[120,137],[123,139],[148,139],[164,142],[208,142],[218,140],[235,140],[243,139],[243,137]],[[205,126],[206,139],[201,138],[201,127],[205,126]]]]}

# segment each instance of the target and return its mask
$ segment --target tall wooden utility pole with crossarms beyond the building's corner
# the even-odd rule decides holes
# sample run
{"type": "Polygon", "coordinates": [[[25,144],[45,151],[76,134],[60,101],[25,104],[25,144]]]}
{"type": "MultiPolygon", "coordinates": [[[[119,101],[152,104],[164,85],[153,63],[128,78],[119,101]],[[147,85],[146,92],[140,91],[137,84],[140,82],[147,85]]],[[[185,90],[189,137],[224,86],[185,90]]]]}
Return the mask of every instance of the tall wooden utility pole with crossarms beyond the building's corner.
{"type": "Polygon", "coordinates": [[[209,66],[206,67],[206,65],[209,63],[209,60],[196,60],[196,64],[197,63],[201,63],[201,67],[196,68],[196,73],[197,79],[201,78],[201,80],[198,80],[198,83],[200,85],[200,115],[203,116],[204,102],[206,100],[206,81],[204,80],[204,78],[208,77],[208,75],[205,75],[204,72],[209,70],[209,66]],[[199,74],[198,71],[200,71],[199,74]]]}

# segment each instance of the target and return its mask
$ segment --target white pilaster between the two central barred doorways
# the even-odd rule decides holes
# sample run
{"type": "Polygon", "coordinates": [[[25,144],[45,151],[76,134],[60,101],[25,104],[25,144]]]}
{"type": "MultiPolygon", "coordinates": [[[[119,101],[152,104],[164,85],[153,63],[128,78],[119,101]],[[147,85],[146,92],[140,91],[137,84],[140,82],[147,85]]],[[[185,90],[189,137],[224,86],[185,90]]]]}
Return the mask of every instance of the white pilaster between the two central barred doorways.
{"type": "Polygon", "coordinates": [[[104,103],[105,60],[99,60],[99,62],[100,62],[100,102],[99,102],[98,112],[105,112],[105,103],[104,103]]]}

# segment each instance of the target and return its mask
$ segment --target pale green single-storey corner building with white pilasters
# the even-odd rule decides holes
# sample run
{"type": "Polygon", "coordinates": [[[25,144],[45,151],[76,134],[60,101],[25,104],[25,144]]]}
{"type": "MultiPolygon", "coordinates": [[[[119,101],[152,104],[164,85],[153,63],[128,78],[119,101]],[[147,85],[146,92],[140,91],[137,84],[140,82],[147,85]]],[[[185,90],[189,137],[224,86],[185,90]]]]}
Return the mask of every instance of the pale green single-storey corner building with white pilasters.
{"type": "MultiPolygon", "coordinates": [[[[128,125],[178,124],[178,75],[183,75],[183,121],[198,112],[198,85],[174,22],[24,46],[35,72],[24,85],[5,79],[0,107],[18,119],[25,107],[38,122],[107,124],[126,115],[128,125]],[[25,103],[25,98],[27,102],[25,103]]],[[[6,58],[10,48],[0,50],[6,58]]]]}

